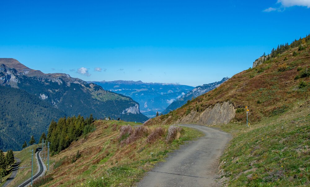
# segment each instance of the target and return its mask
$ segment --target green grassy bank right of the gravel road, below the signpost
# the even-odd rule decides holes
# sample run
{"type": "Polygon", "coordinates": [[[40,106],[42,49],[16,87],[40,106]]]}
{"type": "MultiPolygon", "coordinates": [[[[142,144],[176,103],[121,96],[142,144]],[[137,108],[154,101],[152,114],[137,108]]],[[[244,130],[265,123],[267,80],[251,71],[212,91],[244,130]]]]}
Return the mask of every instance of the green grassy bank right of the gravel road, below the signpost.
{"type": "Polygon", "coordinates": [[[233,135],[220,159],[229,186],[310,185],[310,100],[250,124],[213,125],[233,135]]]}

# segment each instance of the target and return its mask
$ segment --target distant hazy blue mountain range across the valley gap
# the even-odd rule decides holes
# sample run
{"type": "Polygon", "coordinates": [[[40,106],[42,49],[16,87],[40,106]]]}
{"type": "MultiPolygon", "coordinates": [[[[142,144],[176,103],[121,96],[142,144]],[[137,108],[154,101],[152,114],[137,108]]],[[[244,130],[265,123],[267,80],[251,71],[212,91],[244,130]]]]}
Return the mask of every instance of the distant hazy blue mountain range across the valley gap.
{"type": "Polygon", "coordinates": [[[194,87],[173,83],[144,83],[142,81],[89,81],[100,85],[103,89],[123,94],[139,102],[141,113],[154,117],[161,113],[175,99],[187,94],[194,87]]]}

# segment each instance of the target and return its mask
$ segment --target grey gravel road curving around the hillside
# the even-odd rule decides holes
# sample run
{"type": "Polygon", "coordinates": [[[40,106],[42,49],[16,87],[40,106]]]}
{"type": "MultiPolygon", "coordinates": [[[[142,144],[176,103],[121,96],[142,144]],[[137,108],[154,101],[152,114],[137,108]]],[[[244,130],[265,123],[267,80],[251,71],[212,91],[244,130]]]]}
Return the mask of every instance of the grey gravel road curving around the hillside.
{"type": "Polygon", "coordinates": [[[206,135],[170,153],[166,162],[158,163],[138,186],[219,186],[214,178],[229,134],[200,125],[183,126],[196,128],[206,135]]]}

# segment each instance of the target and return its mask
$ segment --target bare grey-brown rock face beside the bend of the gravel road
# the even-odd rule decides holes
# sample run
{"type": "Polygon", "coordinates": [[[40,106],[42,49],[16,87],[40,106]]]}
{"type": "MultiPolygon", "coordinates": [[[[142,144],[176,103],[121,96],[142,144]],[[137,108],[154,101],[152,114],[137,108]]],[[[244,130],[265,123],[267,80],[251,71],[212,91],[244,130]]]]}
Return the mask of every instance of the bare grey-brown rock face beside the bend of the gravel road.
{"type": "MultiPolygon", "coordinates": [[[[216,103],[214,106],[208,107],[203,112],[197,112],[196,110],[191,111],[184,117],[180,117],[175,123],[176,124],[188,124],[197,123],[204,125],[212,124],[228,124],[236,114],[236,109],[230,102],[216,103]]],[[[169,116],[162,124],[166,124],[169,121],[169,116]]]]}

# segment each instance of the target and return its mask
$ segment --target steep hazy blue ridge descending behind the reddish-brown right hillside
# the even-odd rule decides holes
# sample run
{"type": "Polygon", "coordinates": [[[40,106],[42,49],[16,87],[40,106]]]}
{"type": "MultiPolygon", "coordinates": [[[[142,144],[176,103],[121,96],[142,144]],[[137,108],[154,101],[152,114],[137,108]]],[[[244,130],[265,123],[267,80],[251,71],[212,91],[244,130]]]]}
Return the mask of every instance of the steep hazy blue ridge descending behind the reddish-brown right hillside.
{"type": "Polygon", "coordinates": [[[189,91],[187,94],[184,94],[181,98],[178,98],[174,102],[172,102],[165,111],[162,112],[162,114],[168,114],[170,111],[173,111],[179,107],[182,107],[188,100],[191,100],[193,98],[197,98],[198,96],[207,93],[208,91],[215,89],[219,87],[223,82],[228,80],[228,77],[224,77],[222,80],[218,82],[213,82],[210,84],[204,84],[201,86],[197,86],[191,91],[189,91]]]}

